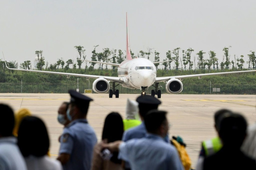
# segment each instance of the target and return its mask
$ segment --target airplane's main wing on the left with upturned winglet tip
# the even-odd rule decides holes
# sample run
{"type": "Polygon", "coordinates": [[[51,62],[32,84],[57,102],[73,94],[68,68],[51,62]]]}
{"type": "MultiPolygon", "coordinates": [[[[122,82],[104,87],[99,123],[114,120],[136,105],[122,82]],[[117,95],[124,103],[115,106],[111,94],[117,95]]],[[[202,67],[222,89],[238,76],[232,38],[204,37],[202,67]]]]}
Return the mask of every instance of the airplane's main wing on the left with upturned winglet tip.
{"type": "MultiPolygon", "coordinates": [[[[5,57],[3,57],[5,60],[5,57]]],[[[110,76],[97,76],[97,75],[87,75],[87,74],[75,74],[75,73],[63,73],[63,72],[54,72],[54,71],[41,71],[41,70],[25,70],[25,69],[17,69],[17,68],[9,68],[6,64],[5,65],[10,70],[19,70],[19,71],[30,71],[30,72],[37,72],[37,73],[47,73],[47,74],[58,74],[58,75],[64,75],[64,76],[76,76],[76,77],[86,77],[86,78],[105,78],[106,80],[110,82],[117,82],[117,83],[123,83],[123,77],[110,77],[110,76]]]]}

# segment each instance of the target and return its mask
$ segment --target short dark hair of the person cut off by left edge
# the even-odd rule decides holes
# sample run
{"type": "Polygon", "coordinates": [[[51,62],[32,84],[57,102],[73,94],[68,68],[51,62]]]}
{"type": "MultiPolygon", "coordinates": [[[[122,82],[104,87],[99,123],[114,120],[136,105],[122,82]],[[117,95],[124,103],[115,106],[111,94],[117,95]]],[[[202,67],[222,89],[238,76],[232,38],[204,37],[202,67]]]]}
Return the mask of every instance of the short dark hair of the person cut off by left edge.
{"type": "Polygon", "coordinates": [[[0,104],[0,135],[3,137],[12,136],[15,123],[13,109],[6,104],[0,104]]]}

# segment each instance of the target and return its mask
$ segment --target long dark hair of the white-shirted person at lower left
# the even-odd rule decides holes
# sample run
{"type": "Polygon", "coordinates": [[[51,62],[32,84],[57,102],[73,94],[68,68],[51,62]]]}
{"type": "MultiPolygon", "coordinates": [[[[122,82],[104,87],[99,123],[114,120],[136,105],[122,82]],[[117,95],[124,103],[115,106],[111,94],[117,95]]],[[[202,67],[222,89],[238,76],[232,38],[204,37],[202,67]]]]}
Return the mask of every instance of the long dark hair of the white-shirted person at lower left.
{"type": "Polygon", "coordinates": [[[24,157],[47,154],[50,146],[47,128],[43,121],[34,116],[22,119],[18,130],[18,146],[24,157]]]}

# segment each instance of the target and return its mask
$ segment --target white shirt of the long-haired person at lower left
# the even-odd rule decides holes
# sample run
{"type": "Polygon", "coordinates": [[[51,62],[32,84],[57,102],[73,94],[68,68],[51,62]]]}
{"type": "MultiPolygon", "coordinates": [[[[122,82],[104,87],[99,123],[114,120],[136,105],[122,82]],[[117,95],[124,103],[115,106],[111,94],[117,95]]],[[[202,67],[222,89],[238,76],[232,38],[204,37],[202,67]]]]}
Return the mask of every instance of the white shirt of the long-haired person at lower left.
{"type": "Polygon", "coordinates": [[[61,162],[50,159],[47,155],[41,157],[30,155],[25,161],[27,170],[62,170],[61,162]]]}

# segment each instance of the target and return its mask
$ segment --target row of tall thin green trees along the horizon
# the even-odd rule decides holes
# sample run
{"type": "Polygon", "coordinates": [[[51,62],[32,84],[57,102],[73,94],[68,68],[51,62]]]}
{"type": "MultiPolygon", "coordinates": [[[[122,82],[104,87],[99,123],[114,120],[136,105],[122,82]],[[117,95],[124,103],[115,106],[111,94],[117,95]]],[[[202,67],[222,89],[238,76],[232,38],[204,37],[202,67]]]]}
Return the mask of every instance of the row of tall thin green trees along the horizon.
{"type": "MultiPolygon", "coordinates": [[[[85,55],[86,49],[81,46],[74,46],[74,48],[78,52],[78,57],[76,58],[76,61],[72,59],[68,59],[67,61],[64,61],[63,58],[57,59],[55,63],[49,63],[45,61],[45,57],[43,56],[43,50],[37,50],[35,51],[35,55],[37,57],[37,69],[38,70],[58,70],[58,69],[65,69],[68,70],[70,68],[73,69],[82,69],[82,63],[85,62],[85,67],[83,68],[85,71],[87,69],[89,70],[94,70],[96,63],[94,62],[89,62],[90,66],[88,67],[88,62],[87,61],[82,61],[82,60],[92,60],[92,61],[100,61],[100,62],[112,62],[112,63],[121,63],[123,60],[125,60],[125,53],[122,50],[110,50],[109,48],[103,48],[102,51],[96,52],[96,48],[99,45],[95,45],[93,51],[91,51],[91,57],[90,59],[87,59],[85,55]],[[82,60],[81,60],[82,59],[82,60]]],[[[223,48],[223,58],[222,61],[219,61],[219,59],[216,57],[216,53],[214,51],[209,51],[208,52],[208,57],[206,57],[206,52],[203,50],[195,53],[196,56],[192,58],[192,53],[195,51],[192,48],[188,48],[187,50],[181,50],[181,48],[175,48],[173,50],[168,50],[166,52],[166,58],[161,63],[163,66],[164,70],[224,70],[224,69],[243,69],[244,64],[248,64],[247,69],[256,69],[256,56],[255,56],[255,51],[249,51],[250,53],[247,54],[248,56],[248,61],[245,61],[243,59],[243,55],[240,57],[234,55],[231,57],[229,53],[229,47],[224,47],[223,48]],[[172,61],[170,61],[172,60],[172,61]],[[174,66],[171,66],[171,63],[174,63],[174,66]]],[[[132,58],[138,58],[138,57],[143,57],[150,59],[150,56],[153,55],[154,61],[160,61],[160,53],[157,52],[156,50],[153,52],[151,48],[148,48],[147,51],[139,51],[138,54],[134,54],[131,51],[131,57],[132,58]]],[[[0,60],[0,65],[3,70],[5,70],[5,63],[4,61],[0,60]]],[[[18,68],[18,63],[16,61],[9,61],[7,62],[8,67],[10,68],[18,68]]],[[[104,64],[98,64],[98,69],[103,70],[103,65],[104,64]]],[[[156,63],[155,67],[158,69],[158,66],[160,63],[156,63]]],[[[109,69],[108,65],[105,65],[105,69],[109,69]]],[[[26,60],[22,62],[19,65],[19,68],[22,69],[32,69],[31,66],[31,61],[26,60]]],[[[115,70],[115,66],[111,66],[111,69],[115,70]]]]}

